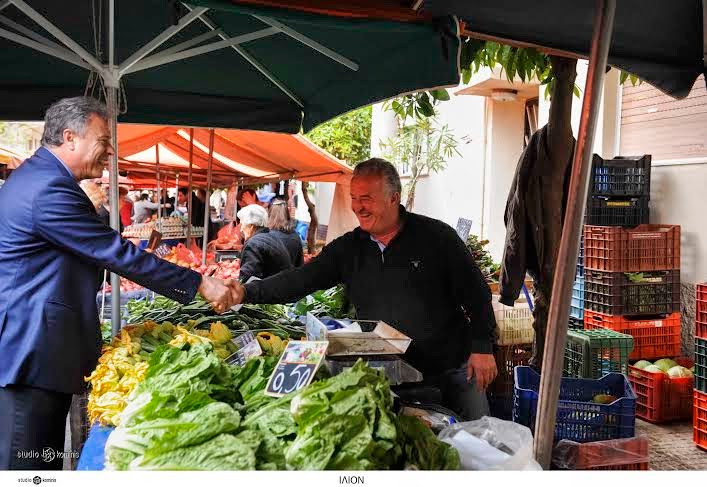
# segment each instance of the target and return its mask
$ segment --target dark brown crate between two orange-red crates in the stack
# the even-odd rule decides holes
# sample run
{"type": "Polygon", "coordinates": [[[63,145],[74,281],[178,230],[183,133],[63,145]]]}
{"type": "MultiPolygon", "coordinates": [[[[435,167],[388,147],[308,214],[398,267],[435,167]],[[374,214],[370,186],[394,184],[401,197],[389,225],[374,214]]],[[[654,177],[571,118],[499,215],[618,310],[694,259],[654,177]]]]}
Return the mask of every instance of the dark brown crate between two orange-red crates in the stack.
{"type": "Polygon", "coordinates": [[[587,269],[584,307],[608,315],[656,315],[680,311],[680,271],[633,274],[587,269]]]}

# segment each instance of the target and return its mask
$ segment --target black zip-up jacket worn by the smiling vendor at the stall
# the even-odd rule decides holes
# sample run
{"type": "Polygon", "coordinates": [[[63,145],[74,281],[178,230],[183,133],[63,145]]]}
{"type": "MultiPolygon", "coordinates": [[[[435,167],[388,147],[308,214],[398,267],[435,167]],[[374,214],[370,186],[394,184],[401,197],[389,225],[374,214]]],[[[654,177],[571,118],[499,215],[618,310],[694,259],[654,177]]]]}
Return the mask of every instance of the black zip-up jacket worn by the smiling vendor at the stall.
{"type": "Polygon", "coordinates": [[[492,353],[491,291],[464,242],[446,223],[402,206],[401,218],[382,255],[357,228],[309,264],[247,284],[246,301],[289,303],[343,283],[359,319],[385,321],[413,339],[405,358],[423,373],[460,367],[471,352],[492,353]]]}

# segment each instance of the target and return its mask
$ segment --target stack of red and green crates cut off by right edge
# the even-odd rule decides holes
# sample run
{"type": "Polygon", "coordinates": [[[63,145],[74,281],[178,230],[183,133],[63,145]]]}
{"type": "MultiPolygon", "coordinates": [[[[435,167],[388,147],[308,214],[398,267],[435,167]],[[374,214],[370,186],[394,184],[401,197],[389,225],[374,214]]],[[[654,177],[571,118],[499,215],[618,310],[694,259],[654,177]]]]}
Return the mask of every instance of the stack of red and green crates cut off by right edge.
{"type": "Polygon", "coordinates": [[[697,285],[693,399],[694,441],[707,450],[707,283],[697,285]]]}

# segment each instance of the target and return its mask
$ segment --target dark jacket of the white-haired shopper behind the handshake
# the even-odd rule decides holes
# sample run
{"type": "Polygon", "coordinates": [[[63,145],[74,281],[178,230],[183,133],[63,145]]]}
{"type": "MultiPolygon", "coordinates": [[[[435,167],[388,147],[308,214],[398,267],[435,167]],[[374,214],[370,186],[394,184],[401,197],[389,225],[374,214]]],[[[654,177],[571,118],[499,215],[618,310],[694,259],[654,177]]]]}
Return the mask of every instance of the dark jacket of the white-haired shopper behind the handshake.
{"type": "Polygon", "coordinates": [[[264,279],[291,268],[290,254],[280,239],[267,228],[255,232],[241,251],[240,280],[243,282],[251,276],[264,279]]]}

